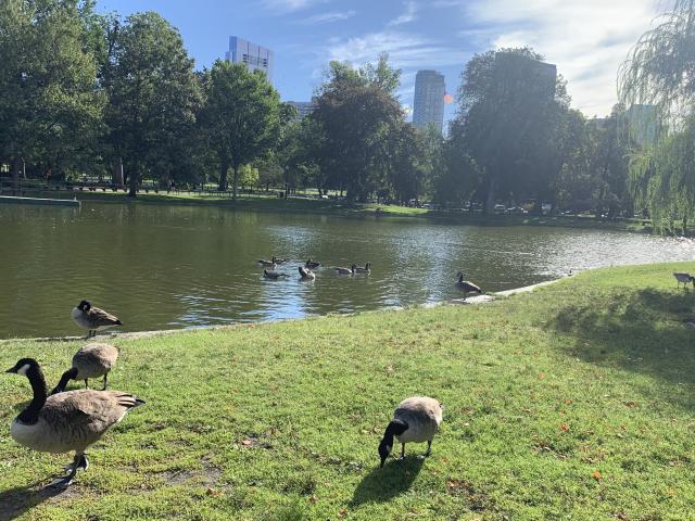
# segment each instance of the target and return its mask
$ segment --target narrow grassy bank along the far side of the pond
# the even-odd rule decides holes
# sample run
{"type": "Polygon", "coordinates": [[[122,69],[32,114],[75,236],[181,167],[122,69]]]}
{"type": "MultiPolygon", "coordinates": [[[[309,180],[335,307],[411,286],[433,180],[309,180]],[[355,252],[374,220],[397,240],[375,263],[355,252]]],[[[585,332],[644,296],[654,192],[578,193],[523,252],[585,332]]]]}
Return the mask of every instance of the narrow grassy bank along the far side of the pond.
{"type": "MultiPolygon", "coordinates": [[[[49,193],[50,194],[50,193],[49,193]]],[[[228,195],[206,195],[193,193],[140,193],[134,200],[123,192],[76,192],[80,201],[110,203],[186,204],[229,206],[260,212],[293,212],[303,214],[340,215],[352,217],[403,217],[446,220],[453,224],[475,226],[560,226],[568,228],[594,228],[635,232],[652,232],[652,223],[642,219],[599,220],[589,215],[540,217],[532,215],[482,215],[468,212],[442,212],[426,208],[410,208],[387,204],[353,204],[343,201],[300,199],[288,200],[277,196],[277,192],[258,195],[241,195],[235,203],[228,195]]],[[[72,196],[72,193],[71,193],[72,196]]]]}

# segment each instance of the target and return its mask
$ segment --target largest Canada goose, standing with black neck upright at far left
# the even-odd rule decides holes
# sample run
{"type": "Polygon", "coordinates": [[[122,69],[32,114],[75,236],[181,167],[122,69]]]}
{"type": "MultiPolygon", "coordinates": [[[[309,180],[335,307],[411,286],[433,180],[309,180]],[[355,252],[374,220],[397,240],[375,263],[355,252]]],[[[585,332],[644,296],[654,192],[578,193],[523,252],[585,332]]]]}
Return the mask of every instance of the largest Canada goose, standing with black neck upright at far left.
{"type": "Polygon", "coordinates": [[[129,409],[144,404],[137,396],[121,391],[79,390],[47,397],[46,380],[34,358],[20,359],[7,372],[27,377],[34,391],[31,403],[10,427],[14,441],[41,453],[75,450],[70,474],[53,486],[67,486],[77,470],[87,470],[87,447],[118,423],[129,409]]]}

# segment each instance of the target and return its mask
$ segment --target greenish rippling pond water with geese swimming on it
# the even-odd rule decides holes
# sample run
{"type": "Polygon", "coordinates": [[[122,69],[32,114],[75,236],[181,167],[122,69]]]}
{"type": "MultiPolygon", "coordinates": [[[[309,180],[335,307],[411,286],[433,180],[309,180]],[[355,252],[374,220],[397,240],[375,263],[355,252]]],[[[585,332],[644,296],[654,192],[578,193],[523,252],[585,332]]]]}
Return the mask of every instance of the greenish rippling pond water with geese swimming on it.
{"type": "Polygon", "coordinates": [[[256,213],[217,206],[84,203],[0,206],[0,338],[84,334],[80,300],[119,331],[295,318],[460,296],[460,269],[485,291],[597,266],[693,259],[695,242],[616,231],[472,227],[384,217],[256,213]],[[289,262],[278,281],[256,259],[289,262]],[[296,266],[325,267],[301,282],[296,266]],[[329,269],[372,264],[370,276],[329,269]]]}

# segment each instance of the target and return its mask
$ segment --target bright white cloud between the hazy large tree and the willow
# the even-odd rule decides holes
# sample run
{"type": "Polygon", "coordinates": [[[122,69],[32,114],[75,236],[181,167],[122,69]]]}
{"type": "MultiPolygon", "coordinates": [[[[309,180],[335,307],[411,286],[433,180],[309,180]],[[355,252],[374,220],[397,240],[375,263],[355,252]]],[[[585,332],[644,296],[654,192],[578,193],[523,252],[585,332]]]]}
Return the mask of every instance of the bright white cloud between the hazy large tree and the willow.
{"type": "Polygon", "coordinates": [[[572,105],[604,115],[617,102],[616,76],[648,30],[659,0],[476,0],[459,36],[488,47],[530,46],[568,80],[572,105]]]}

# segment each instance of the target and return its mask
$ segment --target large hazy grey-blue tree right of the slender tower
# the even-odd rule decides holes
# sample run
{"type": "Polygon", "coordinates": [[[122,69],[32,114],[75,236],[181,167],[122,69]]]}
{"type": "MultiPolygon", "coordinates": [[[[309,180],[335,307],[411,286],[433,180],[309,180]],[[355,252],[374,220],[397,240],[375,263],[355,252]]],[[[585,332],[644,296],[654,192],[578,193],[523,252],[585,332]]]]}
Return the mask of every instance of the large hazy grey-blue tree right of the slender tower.
{"type": "Polygon", "coordinates": [[[497,195],[546,195],[561,166],[554,140],[569,98],[542,58],[503,49],[475,55],[464,69],[451,145],[478,165],[476,191],[489,213],[497,195]]]}

